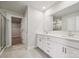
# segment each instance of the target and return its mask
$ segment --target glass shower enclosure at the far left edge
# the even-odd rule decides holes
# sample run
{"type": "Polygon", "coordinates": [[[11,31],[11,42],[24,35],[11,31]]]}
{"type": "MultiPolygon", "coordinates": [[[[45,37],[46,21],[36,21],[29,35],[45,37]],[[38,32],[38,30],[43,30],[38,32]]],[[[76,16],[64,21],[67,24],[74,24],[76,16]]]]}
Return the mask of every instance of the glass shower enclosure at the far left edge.
{"type": "Polygon", "coordinates": [[[6,46],[6,17],[0,14],[0,51],[6,46]]]}

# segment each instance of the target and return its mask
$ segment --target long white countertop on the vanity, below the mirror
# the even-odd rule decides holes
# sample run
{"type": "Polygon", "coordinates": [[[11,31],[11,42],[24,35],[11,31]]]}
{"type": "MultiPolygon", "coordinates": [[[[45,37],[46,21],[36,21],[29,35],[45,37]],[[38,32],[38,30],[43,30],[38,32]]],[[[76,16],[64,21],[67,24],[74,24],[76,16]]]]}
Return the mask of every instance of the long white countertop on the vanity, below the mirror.
{"type": "Polygon", "coordinates": [[[77,40],[79,41],[79,36],[68,36],[67,33],[37,33],[37,34],[41,34],[41,35],[47,35],[47,36],[54,36],[54,37],[59,37],[59,38],[64,38],[64,39],[67,39],[67,40],[77,40]]]}

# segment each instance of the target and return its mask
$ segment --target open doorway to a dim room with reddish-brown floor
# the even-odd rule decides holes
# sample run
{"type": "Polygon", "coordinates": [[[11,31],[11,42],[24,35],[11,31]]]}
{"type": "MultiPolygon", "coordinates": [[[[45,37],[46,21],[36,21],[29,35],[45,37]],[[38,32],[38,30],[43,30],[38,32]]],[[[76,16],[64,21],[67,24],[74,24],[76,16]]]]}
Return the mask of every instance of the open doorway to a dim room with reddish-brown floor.
{"type": "Polygon", "coordinates": [[[12,45],[22,44],[21,18],[12,17],[12,45]]]}

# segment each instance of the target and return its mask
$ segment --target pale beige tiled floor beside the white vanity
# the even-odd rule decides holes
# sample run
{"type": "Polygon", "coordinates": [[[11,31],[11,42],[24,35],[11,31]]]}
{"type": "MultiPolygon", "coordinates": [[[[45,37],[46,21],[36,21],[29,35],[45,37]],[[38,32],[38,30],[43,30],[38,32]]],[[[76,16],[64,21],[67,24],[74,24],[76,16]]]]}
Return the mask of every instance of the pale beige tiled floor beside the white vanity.
{"type": "Polygon", "coordinates": [[[29,49],[27,50],[24,45],[15,45],[9,48],[6,48],[1,58],[49,58],[44,52],[40,49],[29,49]]]}

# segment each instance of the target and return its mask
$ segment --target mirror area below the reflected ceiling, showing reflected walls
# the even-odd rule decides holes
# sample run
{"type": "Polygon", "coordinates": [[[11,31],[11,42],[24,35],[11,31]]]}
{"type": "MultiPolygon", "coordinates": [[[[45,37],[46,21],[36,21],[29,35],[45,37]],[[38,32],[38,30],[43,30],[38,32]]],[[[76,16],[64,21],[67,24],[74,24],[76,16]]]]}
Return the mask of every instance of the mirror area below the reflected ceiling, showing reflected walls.
{"type": "Polygon", "coordinates": [[[53,31],[79,32],[79,12],[53,17],[53,31]]]}

